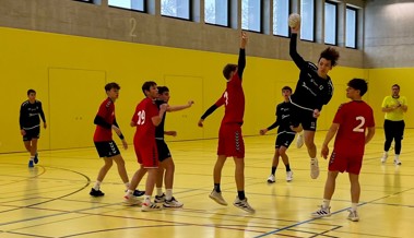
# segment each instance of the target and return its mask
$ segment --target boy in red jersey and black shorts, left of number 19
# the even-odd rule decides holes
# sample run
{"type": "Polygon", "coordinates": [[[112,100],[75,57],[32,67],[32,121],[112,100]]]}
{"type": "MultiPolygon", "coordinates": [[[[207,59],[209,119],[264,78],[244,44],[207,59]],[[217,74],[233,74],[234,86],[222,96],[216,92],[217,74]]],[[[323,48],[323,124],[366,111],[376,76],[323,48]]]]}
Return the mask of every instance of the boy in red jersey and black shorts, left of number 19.
{"type": "MultiPolygon", "coordinates": [[[[94,123],[96,130],[94,134],[94,143],[99,157],[104,158],[105,165],[100,168],[95,186],[91,189],[92,197],[103,197],[105,193],[100,191],[100,183],[106,174],[113,166],[113,162],[117,163],[119,176],[127,189],[129,187],[129,179],[125,168],[125,160],[120,155],[117,144],[113,140],[113,130],[122,140],[123,148],[128,148],[127,141],[125,140],[121,130],[115,118],[115,102],[118,99],[120,86],[117,83],[108,83],[105,85],[105,92],[108,97],[100,104],[99,110],[95,117],[94,123]]],[[[135,195],[142,195],[142,191],[134,191],[135,195]]]]}

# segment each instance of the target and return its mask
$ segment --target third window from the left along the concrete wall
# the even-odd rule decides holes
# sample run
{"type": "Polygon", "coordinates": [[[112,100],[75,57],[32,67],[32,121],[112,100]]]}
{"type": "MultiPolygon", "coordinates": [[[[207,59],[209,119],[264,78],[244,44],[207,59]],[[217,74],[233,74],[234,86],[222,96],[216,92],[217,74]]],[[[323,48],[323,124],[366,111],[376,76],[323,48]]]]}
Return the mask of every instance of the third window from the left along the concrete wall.
{"type": "Polygon", "coordinates": [[[205,0],[204,21],[210,24],[228,26],[228,0],[205,0]]]}

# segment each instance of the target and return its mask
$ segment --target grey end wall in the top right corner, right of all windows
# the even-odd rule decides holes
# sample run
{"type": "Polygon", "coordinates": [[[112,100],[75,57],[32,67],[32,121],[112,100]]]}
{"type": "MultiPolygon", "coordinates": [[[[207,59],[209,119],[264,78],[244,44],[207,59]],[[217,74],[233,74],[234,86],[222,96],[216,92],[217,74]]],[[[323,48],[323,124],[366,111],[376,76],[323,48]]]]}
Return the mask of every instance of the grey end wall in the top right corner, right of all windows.
{"type": "Polygon", "coordinates": [[[368,0],[365,68],[414,67],[414,1],[368,0]]]}

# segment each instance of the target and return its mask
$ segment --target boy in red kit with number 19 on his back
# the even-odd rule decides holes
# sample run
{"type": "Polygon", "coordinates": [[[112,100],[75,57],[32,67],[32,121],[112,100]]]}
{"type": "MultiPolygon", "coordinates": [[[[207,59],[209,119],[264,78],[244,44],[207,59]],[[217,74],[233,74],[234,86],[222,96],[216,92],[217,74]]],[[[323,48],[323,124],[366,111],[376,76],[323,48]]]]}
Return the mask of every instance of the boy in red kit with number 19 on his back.
{"type": "Polygon", "coordinates": [[[162,122],[167,104],[161,105],[158,110],[158,107],[154,102],[158,96],[158,90],[155,82],[145,82],[142,85],[142,92],[144,93],[145,98],[138,104],[131,121],[131,127],[137,127],[133,145],[138,163],[140,164],[140,169],[133,175],[131,185],[125,195],[125,202],[129,204],[139,204],[138,200],[133,197],[133,191],[137,188],[138,182],[147,171],[149,176],[146,178],[145,195],[141,209],[143,212],[147,212],[161,210],[161,206],[151,202],[151,195],[154,190],[158,170],[155,127],[162,122]]]}

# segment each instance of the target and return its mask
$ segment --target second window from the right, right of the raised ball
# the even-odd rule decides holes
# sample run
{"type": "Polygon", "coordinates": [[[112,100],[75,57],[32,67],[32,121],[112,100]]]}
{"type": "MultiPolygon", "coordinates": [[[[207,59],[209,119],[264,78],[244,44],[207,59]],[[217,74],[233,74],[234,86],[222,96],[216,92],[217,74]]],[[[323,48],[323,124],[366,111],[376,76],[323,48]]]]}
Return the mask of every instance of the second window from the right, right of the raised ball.
{"type": "Polygon", "coordinates": [[[324,43],[336,45],[336,4],[324,2],[324,43]]]}

